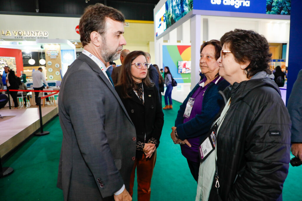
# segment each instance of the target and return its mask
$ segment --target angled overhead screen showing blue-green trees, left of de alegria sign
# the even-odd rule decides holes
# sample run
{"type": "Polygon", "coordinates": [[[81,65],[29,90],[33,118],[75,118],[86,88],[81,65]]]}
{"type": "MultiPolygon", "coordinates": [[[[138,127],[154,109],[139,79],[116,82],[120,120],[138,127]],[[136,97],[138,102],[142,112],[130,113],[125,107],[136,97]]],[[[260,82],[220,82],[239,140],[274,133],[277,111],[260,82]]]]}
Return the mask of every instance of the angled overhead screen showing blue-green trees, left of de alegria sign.
{"type": "Polygon", "coordinates": [[[167,0],[155,14],[156,36],[193,9],[193,0],[167,0]]]}

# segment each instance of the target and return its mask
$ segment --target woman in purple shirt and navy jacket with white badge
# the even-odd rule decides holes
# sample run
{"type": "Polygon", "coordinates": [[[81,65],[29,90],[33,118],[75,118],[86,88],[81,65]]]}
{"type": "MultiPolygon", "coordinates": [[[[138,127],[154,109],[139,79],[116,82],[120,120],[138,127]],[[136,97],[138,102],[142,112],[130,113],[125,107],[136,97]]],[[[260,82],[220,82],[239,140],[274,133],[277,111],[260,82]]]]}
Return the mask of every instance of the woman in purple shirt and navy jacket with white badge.
{"type": "Polygon", "coordinates": [[[204,42],[200,49],[199,66],[205,75],[189,93],[178,110],[171,138],[180,144],[182,155],[188,161],[191,174],[198,180],[200,159],[198,146],[200,138],[208,133],[214,117],[224,105],[218,91],[229,85],[219,76],[216,60],[220,57],[221,45],[218,40],[204,42]]]}

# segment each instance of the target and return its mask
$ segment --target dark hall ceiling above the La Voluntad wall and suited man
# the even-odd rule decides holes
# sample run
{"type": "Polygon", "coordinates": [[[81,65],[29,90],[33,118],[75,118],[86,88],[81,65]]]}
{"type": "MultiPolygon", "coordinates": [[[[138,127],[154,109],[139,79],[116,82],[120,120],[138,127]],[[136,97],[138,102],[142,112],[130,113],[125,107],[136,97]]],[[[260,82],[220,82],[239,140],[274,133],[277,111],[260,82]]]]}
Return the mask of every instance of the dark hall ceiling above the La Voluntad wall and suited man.
{"type": "Polygon", "coordinates": [[[80,17],[88,5],[102,3],[120,10],[127,20],[153,21],[159,0],[0,0],[0,14],[80,17]]]}

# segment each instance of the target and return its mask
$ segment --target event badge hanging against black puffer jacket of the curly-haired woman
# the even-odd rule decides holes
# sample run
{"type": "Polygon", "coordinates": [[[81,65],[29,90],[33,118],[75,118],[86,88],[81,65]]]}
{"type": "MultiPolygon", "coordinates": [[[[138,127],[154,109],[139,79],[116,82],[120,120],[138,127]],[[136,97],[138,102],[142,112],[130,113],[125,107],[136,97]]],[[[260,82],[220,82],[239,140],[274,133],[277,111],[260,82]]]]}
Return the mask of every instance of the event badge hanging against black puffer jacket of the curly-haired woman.
{"type": "Polygon", "coordinates": [[[203,162],[210,155],[210,153],[215,150],[217,135],[216,130],[217,123],[211,128],[210,132],[207,134],[207,137],[203,140],[198,148],[201,162],[203,162]]]}

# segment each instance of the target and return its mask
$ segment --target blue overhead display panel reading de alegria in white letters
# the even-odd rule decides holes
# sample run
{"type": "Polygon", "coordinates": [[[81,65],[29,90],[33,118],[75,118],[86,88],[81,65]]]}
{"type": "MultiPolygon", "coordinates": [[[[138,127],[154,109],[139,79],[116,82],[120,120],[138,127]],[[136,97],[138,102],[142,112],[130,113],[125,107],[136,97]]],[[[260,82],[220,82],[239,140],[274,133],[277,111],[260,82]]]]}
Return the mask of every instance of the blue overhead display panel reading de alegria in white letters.
{"type": "Polygon", "coordinates": [[[194,9],[261,14],[291,14],[291,0],[194,0],[194,9]]]}

